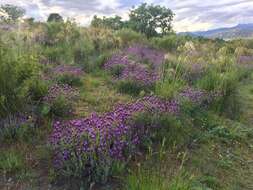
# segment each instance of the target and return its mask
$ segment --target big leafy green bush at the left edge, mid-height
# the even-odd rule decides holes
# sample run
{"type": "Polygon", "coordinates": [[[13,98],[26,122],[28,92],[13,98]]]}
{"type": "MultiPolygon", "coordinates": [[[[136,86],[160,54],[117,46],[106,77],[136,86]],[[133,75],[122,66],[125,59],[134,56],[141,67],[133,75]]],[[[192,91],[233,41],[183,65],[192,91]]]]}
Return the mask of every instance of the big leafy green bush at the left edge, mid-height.
{"type": "Polygon", "coordinates": [[[32,56],[19,56],[15,49],[0,43],[0,118],[21,111],[27,98],[24,84],[37,75],[37,60],[32,56]]]}

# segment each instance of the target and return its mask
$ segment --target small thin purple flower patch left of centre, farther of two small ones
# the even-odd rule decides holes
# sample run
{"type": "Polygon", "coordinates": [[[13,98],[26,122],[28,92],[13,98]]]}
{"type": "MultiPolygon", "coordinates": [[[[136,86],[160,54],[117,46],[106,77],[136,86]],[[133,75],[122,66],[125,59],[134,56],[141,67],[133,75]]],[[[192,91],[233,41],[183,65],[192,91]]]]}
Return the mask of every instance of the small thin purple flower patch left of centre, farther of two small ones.
{"type": "Polygon", "coordinates": [[[70,75],[75,75],[75,76],[82,76],[83,71],[80,67],[75,67],[71,65],[59,65],[55,68],[53,68],[53,73],[54,74],[70,74],[70,75]]]}

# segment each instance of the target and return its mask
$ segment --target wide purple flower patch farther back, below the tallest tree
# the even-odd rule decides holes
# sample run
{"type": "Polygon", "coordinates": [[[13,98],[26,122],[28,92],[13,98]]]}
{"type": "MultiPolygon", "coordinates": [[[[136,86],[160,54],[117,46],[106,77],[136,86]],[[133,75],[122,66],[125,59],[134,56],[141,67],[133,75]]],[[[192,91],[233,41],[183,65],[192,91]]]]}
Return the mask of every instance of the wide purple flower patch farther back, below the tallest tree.
{"type": "Polygon", "coordinates": [[[121,66],[122,72],[118,79],[134,80],[150,85],[159,79],[159,68],[163,61],[164,53],[136,45],[125,49],[122,53],[113,55],[105,63],[104,68],[112,70],[116,66],[121,66]],[[148,64],[143,61],[147,61],[148,64]]]}

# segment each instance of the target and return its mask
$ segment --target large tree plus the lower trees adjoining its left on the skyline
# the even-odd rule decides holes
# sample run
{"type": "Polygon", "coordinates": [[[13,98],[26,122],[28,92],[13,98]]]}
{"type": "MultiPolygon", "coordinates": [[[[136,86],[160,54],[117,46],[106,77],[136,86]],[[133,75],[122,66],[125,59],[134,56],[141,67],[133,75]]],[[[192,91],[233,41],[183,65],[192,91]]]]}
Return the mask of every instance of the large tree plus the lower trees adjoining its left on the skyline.
{"type": "Polygon", "coordinates": [[[131,28],[147,37],[153,37],[170,33],[173,17],[174,13],[169,8],[143,3],[130,11],[128,21],[122,21],[120,16],[99,18],[95,15],[91,26],[113,30],[131,28]]]}

